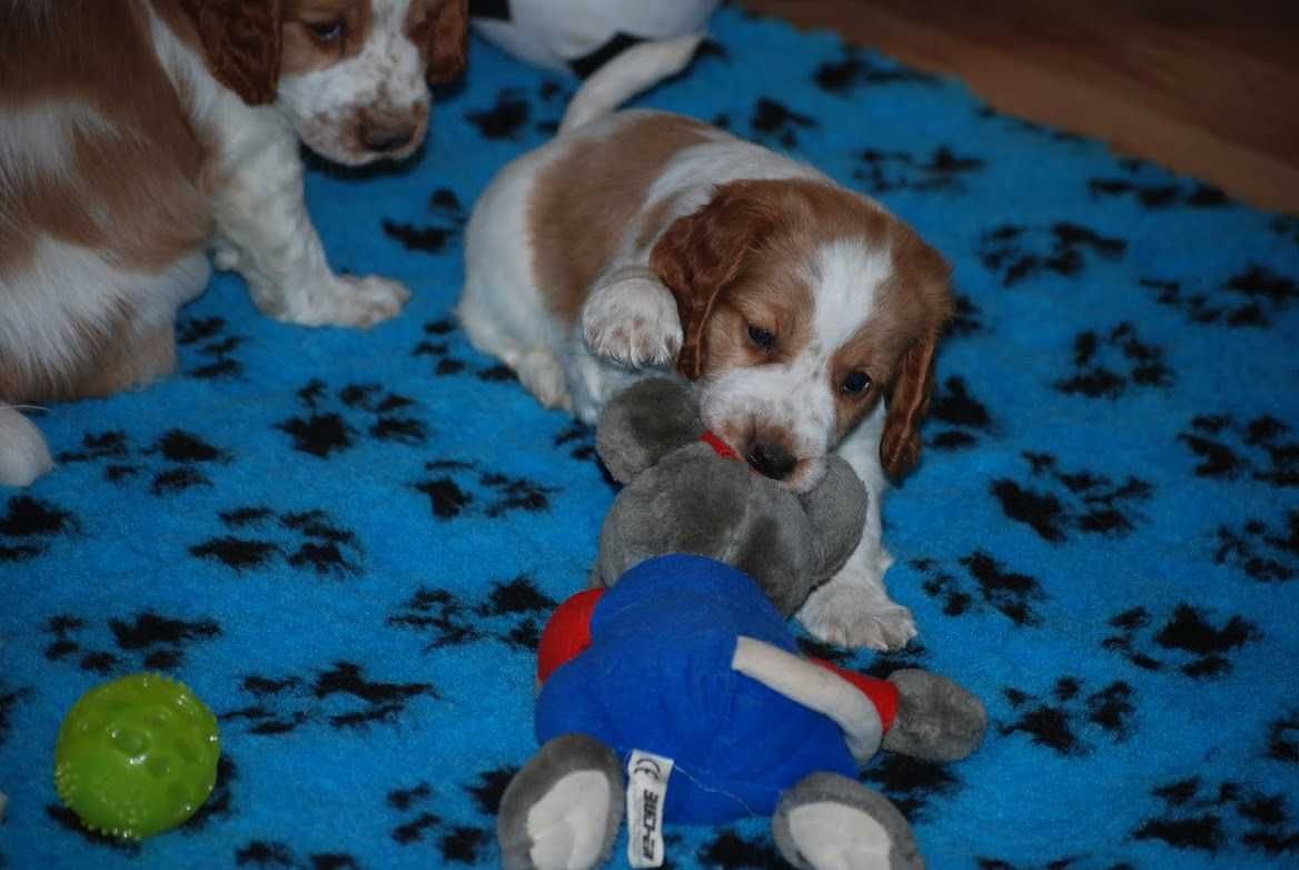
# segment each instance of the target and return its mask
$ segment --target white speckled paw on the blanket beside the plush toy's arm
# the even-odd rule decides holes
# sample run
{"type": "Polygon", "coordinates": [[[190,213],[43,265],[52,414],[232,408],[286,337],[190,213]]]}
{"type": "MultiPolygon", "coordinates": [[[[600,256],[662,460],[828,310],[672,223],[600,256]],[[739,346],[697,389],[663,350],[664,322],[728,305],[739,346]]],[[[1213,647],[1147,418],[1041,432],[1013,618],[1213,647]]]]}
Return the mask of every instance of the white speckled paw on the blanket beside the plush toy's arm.
{"type": "Polygon", "coordinates": [[[874,601],[851,584],[831,580],[816,590],[799,610],[808,632],[837,647],[902,649],[916,636],[916,618],[900,604],[874,601]]]}

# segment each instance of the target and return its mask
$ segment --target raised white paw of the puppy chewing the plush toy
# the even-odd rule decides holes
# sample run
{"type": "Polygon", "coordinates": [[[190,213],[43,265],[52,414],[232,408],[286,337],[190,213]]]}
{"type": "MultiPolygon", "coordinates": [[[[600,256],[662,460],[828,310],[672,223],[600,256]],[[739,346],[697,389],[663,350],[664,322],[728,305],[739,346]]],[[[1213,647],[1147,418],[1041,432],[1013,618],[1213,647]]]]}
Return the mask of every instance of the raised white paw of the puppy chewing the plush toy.
{"type": "Polygon", "coordinates": [[[591,353],[631,369],[672,365],[681,351],[677,300],[644,273],[600,284],[582,309],[591,353]]]}

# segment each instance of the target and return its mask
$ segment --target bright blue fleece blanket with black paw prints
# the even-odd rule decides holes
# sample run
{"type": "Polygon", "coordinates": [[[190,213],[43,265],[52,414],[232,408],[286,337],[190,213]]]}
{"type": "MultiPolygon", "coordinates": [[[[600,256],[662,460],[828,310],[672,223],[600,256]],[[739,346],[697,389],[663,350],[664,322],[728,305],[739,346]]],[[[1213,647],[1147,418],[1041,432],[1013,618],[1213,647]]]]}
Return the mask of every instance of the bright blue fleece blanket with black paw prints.
{"type": "MultiPolygon", "coordinates": [[[[955,264],[925,460],[886,506],[921,635],[837,657],[948,674],[991,727],[864,779],[939,869],[1295,861],[1299,221],[833,36],[713,34],[640,103],[814,162],[955,264]]],[[[496,864],[539,626],[613,492],[448,312],[474,197],[572,87],[475,43],[417,165],[313,171],[333,262],[408,282],[399,319],[283,326],[221,275],[178,377],[38,418],[60,467],[0,493],[0,866],[496,864]],[[58,805],[51,754],[78,695],[142,669],[208,701],[225,754],[195,819],[122,845],[58,805]]],[[[668,849],[778,865],[763,821],[668,849]]]]}

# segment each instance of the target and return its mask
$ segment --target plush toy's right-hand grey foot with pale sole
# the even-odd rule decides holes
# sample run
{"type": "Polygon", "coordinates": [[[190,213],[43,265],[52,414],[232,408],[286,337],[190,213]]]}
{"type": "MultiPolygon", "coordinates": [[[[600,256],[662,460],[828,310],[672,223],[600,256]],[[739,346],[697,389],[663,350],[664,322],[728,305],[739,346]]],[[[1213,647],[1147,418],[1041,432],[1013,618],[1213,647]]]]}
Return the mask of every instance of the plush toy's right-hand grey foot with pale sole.
{"type": "Polygon", "coordinates": [[[911,825],[887,797],[839,774],[812,774],[781,797],[772,835],[799,870],[922,870],[911,825]]]}

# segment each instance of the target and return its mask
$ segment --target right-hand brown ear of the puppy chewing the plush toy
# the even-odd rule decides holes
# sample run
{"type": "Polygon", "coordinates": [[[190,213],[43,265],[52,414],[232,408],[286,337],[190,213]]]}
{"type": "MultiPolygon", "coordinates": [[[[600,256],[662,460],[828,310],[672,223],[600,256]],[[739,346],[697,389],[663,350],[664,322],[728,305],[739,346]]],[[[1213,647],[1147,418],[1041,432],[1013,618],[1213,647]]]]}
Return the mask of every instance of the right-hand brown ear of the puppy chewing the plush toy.
{"type": "Polygon", "coordinates": [[[911,292],[920,306],[920,330],[903,352],[898,375],[889,395],[889,414],[879,439],[879,464],[892,478],[900,478],[920,462],[920,425],[929,413],[934,391],[934,357],[938,342],[952,314],[951,266],[937,251],[908,232],[896,251],[896,260],[909,260],[903,274],[912,275],[911,292]]]}

